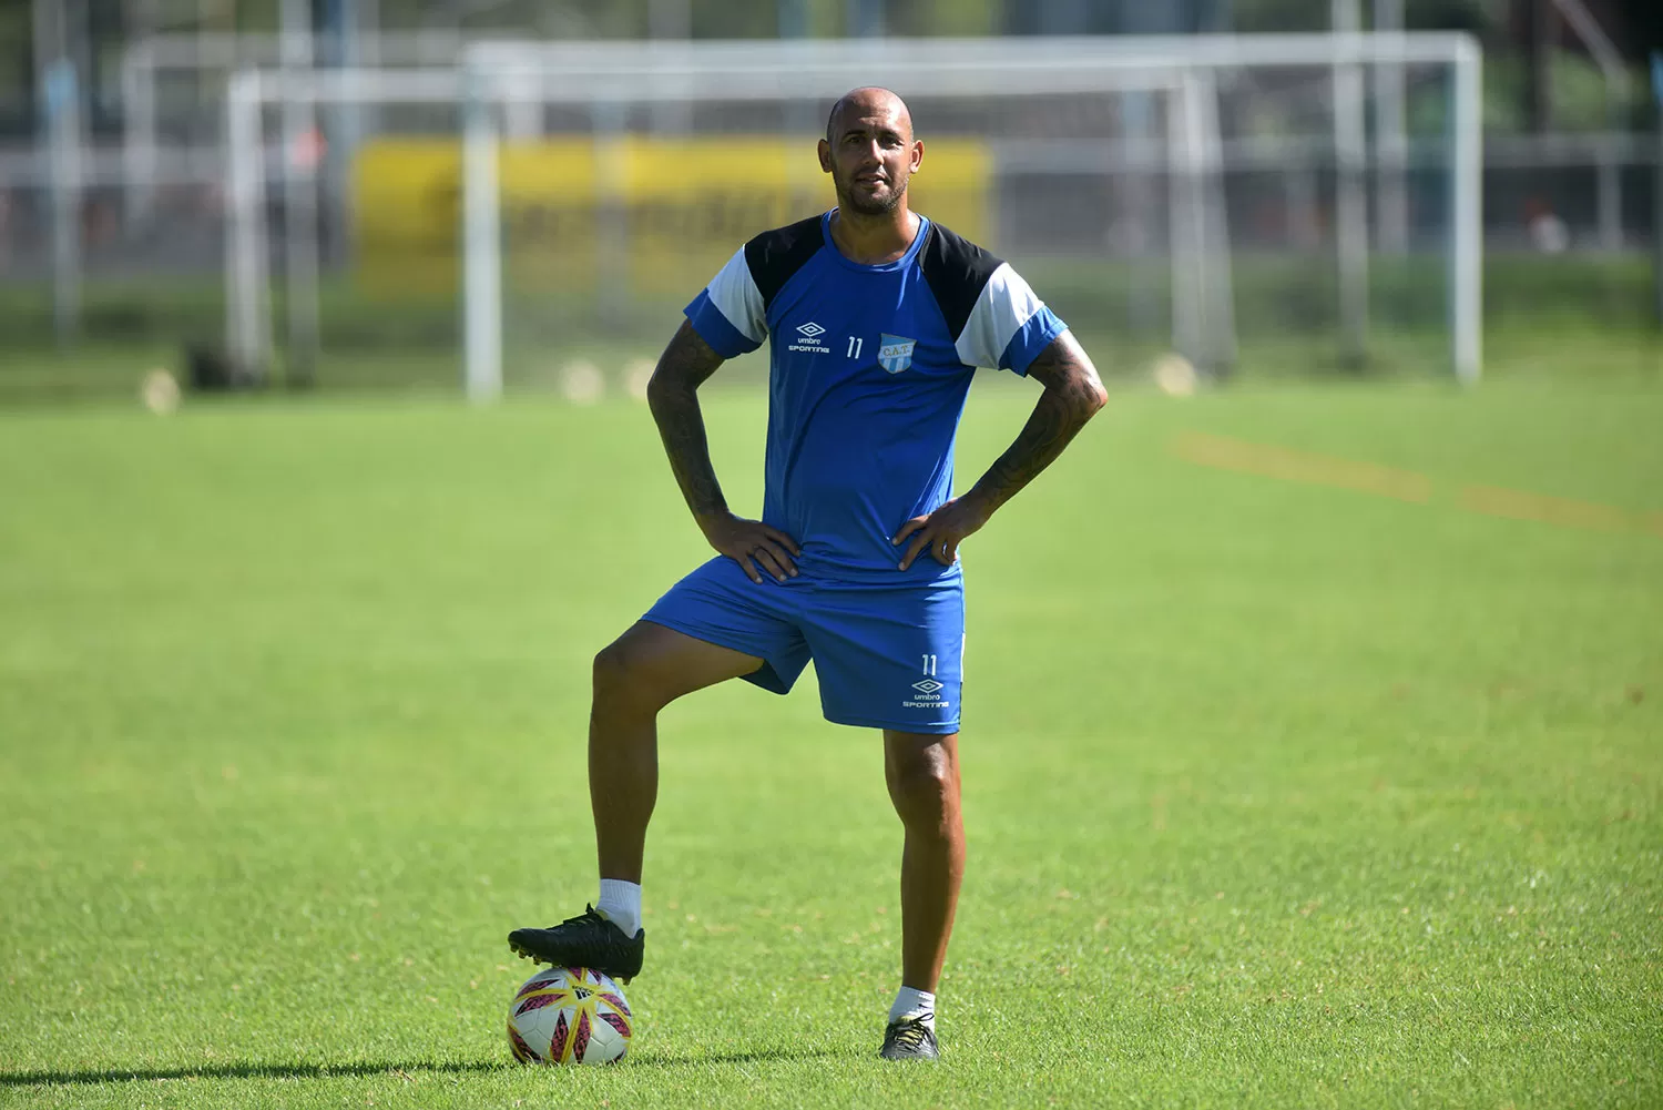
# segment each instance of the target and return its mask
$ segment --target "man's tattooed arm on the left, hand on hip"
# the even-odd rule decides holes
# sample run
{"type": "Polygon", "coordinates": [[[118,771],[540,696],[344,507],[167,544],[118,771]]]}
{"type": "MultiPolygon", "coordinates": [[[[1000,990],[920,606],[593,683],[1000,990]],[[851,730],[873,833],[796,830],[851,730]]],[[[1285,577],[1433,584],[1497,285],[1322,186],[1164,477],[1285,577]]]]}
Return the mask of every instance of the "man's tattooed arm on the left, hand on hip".
{"type": "Polygon", "coordinates": [[[682,488],[687,508],[710,546],[738,562],[750,581],[762,581],[757,569],[762,567],[783,582],[788,574],[797,576],[797,564],[792,561],[792,556],[800,554],[797,541],[762,521],[747,521],[728,511],[722,483],[710,464],[698,386],[720,364],[722,356],[683,320],[647,383],[647,406],[659,424],[664,453],[670,456],[675,484],[682,488]]]}

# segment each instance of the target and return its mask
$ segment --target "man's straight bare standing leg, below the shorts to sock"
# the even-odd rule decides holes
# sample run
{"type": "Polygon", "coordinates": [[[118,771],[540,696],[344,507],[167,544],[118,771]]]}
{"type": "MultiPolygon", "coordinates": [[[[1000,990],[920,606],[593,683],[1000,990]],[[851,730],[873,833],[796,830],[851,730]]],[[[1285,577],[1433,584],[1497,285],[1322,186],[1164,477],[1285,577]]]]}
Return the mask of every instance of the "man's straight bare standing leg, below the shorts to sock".
{"type": "Polygon", "coordinates": [[[883,777],[901,815],[901,985],[935,994],[965,879],[958,734],[883,734],[883,777]]]}

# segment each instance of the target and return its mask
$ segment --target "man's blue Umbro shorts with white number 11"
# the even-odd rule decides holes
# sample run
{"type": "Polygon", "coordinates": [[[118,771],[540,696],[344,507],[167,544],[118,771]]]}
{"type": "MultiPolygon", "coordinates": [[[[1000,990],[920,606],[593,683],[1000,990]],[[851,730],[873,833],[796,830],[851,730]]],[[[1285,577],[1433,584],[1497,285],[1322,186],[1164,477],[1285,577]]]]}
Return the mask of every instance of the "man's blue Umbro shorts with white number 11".
{"type": "Polygon", "coordinates": [[[775,694],[813,659],[820,709],[833,724],[958,732],[965,579],[956,566],[895,586],[808,576],[758,584],[717,556],[642,619],[762,657],[745,679],[775,694]]]}

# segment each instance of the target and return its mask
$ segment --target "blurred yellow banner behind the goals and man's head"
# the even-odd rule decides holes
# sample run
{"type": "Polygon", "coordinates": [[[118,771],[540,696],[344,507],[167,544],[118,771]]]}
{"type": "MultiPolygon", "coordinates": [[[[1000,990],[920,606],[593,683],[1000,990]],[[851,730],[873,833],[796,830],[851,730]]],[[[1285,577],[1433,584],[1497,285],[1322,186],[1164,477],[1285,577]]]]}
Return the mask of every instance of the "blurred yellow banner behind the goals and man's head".
{"type": "MultiPolygon", "coordinates": [[[[456,286],[461,168],[452,140],[359,151],[354,243],[371,288],[456,286]]],[[[989,171],[981,143],[926,143],[910,203],[983,241],[989,171]]],[[[812,143],[765,136],[509,143],[499,183],[511,293],[610,285],[692,298],[750,236],[836,203],[812,143]]]]}

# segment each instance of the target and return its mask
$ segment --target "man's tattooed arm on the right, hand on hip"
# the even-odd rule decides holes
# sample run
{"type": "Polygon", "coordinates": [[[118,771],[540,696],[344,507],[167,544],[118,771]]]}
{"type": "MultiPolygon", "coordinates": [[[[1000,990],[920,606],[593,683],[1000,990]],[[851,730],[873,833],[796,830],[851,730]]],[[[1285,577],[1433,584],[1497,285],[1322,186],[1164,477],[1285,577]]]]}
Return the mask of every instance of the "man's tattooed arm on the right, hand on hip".
{"type": "Polygon", "coordinates": [[[1091,358],[1071,331],[1064,331],[1034,358],[1028,376],[1044,386],[1033,416],[1009,449],[994,459],[963,498],[948,501],[928,516],[916,516],[895,536],[900,546],[911,536],[900,567],[905,571],[928,551],[938,562],[951,564],[958,544],[988,523],[993,513],[1048,468],[1069,439],[1108,401],[1091,358]]]}

